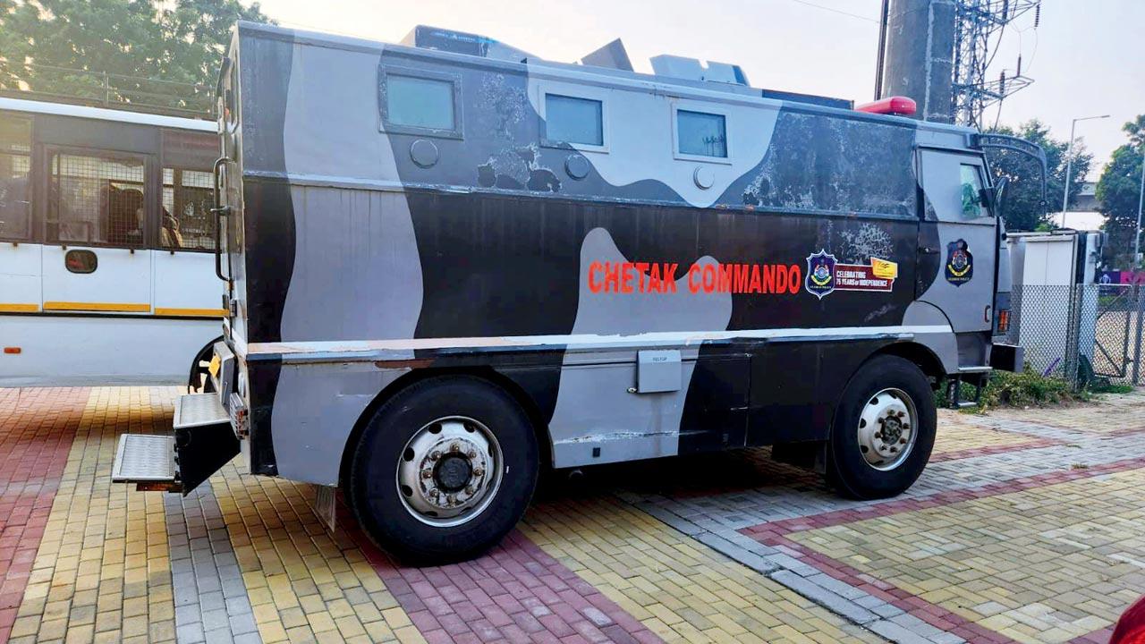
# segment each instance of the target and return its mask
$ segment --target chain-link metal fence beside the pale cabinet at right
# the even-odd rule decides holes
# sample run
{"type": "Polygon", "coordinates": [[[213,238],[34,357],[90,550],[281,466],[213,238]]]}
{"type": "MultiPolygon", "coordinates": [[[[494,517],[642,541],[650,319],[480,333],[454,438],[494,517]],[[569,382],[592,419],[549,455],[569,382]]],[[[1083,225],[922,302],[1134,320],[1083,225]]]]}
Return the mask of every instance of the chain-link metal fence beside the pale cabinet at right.
{"type": "Polygon", "coordinates": [[[1142,384],[1145,285],[1016,286],[1006,341],[1026,364],[1074,387],[1142,384]]]}

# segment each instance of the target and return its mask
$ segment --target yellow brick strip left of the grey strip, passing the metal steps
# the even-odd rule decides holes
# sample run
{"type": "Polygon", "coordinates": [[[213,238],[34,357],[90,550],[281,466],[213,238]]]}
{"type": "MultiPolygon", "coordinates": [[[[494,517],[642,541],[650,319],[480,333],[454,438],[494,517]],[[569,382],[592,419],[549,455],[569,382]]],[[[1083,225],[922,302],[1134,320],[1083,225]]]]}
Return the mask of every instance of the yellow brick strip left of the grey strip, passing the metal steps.
{"type": "Polygon", "coordinates": [[[117,435],[168,430],[173,391],[92,391],[13,626],[13,644],[175,641],[163,498],[110,479],[117,435]]]}

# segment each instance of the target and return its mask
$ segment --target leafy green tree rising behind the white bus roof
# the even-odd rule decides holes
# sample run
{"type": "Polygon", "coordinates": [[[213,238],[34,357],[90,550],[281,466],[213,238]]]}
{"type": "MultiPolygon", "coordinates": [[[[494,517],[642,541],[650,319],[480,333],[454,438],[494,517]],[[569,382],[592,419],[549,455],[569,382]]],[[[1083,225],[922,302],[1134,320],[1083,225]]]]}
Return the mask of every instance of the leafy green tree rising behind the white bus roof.
{"type": "Polygon", "coordinates": [[[0,89],[210,110],[238,0],[0,0],[0,89]]]}

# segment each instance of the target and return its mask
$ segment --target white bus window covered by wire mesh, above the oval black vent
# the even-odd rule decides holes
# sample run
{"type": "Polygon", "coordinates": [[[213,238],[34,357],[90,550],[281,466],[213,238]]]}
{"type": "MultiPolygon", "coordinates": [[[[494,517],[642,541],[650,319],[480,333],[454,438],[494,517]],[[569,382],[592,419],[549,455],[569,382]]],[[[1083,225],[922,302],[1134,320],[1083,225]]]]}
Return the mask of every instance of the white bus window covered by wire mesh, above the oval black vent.
{"type": "Polygon", "coordinates": [[[48,168],[49,243],[143,245],[142,159],[53,152],[48,168]]]}

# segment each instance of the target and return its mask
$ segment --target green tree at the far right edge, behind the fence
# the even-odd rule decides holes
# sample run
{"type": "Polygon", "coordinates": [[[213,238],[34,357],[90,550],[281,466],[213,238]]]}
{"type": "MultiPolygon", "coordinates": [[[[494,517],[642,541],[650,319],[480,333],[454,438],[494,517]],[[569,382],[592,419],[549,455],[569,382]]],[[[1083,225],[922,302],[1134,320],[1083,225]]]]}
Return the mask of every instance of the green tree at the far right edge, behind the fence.
{"type": "Polygon", "coordinates": [[[1127,123],[1122,129],[1129,143],[1113,151],[1113,158],[1097,182],[1097,201],[1101,204],[1108,234],[1105,259],[1112,268],[1130,268],[1136,261],[1132,253],[1142,189],[1142,155],[1145,154],[1145,115],[1127,123]]]}

